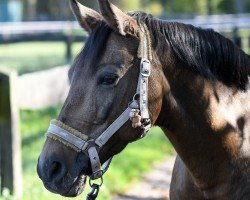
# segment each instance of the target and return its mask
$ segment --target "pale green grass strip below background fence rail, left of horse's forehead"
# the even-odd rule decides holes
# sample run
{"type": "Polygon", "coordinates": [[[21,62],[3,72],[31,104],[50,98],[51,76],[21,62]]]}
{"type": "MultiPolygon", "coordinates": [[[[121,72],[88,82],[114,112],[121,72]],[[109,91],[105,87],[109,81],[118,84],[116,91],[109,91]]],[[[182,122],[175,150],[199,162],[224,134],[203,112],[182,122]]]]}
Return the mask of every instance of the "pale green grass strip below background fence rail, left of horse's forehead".
{"type": "MultiPolygon", "coordinates": [[[[75,56],[83,43],[74,43],[72,53],[75,56]]],[[[68,64],[65,59],[63,42],[25,42],[0,45],[0,66],[17,69],[19,74],[44,70],[68,64]]]]}

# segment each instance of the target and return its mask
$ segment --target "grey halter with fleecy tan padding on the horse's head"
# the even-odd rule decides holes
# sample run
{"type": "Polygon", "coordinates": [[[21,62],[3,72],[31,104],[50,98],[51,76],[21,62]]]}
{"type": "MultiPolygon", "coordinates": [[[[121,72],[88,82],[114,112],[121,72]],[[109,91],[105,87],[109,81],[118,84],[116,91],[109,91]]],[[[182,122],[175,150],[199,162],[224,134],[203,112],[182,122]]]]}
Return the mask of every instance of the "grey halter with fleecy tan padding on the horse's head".
{"type": "MultiPolygon", "coordinates": [[[[108,142],[108,140],[127,122],[133,119],[136,113],[140,116],[138,126],[143,129],[144,137],[151,128],[148,110],[148,78],[150,76],[150,60],[151,44],[148,29],[145,24],[139,25],[140,27],[140,46],[138,48],[138,57],[141,58],[140,74],[138,78],[137,90],[134,95],[132,103],[129,104],[127,109],[103,132],[95,139],[89,139],[88,136],[80,133],[79,131],[67,126],[66,124],[52,120],[48,128],[46,136],[48,138],[57,140],[66,146],[73,148],[77,152],[83,152],[89,156],[92,168],[92,175],[90,179],[101,178],[107,171],[111,162],[110,158],[102,168],[98,152],[108,142]],[[139,101],[138,101],[139,97],[139,101]]],[[[138,115],[137,115],[138,116],[138,115]]]]}

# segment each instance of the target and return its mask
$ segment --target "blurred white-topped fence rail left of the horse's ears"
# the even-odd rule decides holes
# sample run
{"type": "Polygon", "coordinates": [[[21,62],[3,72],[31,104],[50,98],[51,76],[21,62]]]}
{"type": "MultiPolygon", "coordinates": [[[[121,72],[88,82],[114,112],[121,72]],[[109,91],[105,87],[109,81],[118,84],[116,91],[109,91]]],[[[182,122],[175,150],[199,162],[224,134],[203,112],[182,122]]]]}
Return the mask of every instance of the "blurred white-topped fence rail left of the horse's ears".
{"type": "Polygon", "coordinates": [[[73,42],[83,42],[86,32],[81,32],[77,22],[8,22],[0,23],[0,44],[30,41],[60,41],[65,43],[65,58],[72,59],[73,42]]]}

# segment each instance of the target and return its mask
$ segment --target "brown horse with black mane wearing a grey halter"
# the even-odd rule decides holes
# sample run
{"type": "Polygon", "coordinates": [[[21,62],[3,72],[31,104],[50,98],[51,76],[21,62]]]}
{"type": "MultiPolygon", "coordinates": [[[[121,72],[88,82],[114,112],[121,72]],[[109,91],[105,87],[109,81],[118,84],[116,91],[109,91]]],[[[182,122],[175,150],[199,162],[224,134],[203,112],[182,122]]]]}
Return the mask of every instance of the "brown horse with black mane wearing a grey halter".
{"type": "Polygon", "coordinates": [[[100,13],[70,5],[89,37],[38,159],[44,186],[79,195],[86,176],[102,178],[102,164],[157,125],[177,152],[171,200],[249,199],[250,56],[211,29],[108,0],[100,13]]]}

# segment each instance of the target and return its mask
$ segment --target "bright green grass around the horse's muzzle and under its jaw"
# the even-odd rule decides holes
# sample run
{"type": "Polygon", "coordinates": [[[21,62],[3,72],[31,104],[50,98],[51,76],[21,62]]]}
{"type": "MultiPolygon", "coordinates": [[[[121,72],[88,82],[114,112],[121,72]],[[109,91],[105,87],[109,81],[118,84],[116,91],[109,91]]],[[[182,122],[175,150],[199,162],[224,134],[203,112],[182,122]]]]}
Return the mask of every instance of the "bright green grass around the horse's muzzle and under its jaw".
{"type": "MultiPolygon", "coordinates": [[[[59,108],[21,111],[24,200],[67,199],[48,192],[36,174],[37,158],[45,142],[44,133],[51,118],[56,117],[58,111],[59,108]]],[[[150,170],[154,163],[172,151],[160,128],[152,128],[146,138],[129,144],[113,159],[109,171],[104,176],[100,199],[108,200],[112,194],[124,191],[138,180],[143,172],[150,170]]],[[[89,188],[76,199],[83,199],[87,191],[89,188]]]]}

